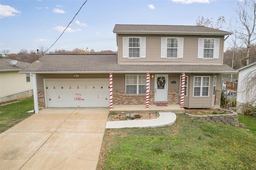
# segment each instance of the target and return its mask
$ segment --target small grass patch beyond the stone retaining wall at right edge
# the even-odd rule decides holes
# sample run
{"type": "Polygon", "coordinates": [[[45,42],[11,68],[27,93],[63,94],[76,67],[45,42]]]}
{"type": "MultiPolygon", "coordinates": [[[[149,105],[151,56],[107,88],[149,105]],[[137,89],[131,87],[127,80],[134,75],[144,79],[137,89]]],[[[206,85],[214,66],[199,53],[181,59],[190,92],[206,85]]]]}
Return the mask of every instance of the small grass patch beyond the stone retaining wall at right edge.
{"type": "Polygon", "coordinates": [[[239,114],[238,121],[239,123],[244,123],[244,125],[246,125],[246,128],[251,130],[250,133],[256,136],[256,118],[255,117],[239,114]]]}

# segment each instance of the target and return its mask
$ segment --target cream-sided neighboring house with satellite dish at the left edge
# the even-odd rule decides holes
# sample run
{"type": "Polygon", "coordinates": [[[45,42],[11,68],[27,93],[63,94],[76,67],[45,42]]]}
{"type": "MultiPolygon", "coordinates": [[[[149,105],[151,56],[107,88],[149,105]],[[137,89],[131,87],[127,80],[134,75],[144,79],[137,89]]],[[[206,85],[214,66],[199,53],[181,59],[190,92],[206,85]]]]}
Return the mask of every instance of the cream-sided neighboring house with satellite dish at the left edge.
{"type": "Polygon", "coordinates": [[[21,74],[20,70],[30,63],[18,61],[15,66],[12,59],[0,59],[0,103],[33,95],[33,82],[29,73],[21,74]]]}

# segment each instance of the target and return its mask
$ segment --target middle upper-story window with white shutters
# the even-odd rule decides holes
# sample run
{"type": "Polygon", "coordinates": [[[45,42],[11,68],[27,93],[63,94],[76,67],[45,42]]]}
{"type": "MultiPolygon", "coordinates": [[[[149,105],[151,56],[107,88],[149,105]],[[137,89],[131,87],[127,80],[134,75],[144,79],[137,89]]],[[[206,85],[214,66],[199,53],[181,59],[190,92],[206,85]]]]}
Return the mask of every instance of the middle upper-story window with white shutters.
{"type": "Polygon", "coordinates": [[[161,38],[161,58],[183,58],[183,38],[161,38]]]}

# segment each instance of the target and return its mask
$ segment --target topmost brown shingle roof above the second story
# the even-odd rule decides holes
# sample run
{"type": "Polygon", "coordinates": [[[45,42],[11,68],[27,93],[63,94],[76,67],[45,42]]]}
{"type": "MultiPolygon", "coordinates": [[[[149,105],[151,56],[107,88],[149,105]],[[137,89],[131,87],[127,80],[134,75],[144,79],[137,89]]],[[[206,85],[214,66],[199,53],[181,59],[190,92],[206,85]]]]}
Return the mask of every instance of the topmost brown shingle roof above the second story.
{"type": "Polygon", "coordinates": [[[228,35],[231,32],[205,26],[169,26],[169,25],[120,25],[116,24],[114,33],[120,34],[186,34],[186,35],[228,35]]]}

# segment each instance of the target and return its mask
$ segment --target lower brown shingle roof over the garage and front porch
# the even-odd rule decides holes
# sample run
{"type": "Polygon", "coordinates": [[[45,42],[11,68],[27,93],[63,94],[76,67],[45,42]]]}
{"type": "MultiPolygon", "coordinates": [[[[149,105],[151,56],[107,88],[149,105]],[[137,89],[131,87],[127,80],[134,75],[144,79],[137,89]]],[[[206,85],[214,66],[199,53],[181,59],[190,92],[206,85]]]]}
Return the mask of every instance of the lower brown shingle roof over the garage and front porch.
{"type": "Polygon", "coordinates": [[[118,65],[117,55],[44,55],[26,73],[237,73],[228,65],[118,65]]]}

